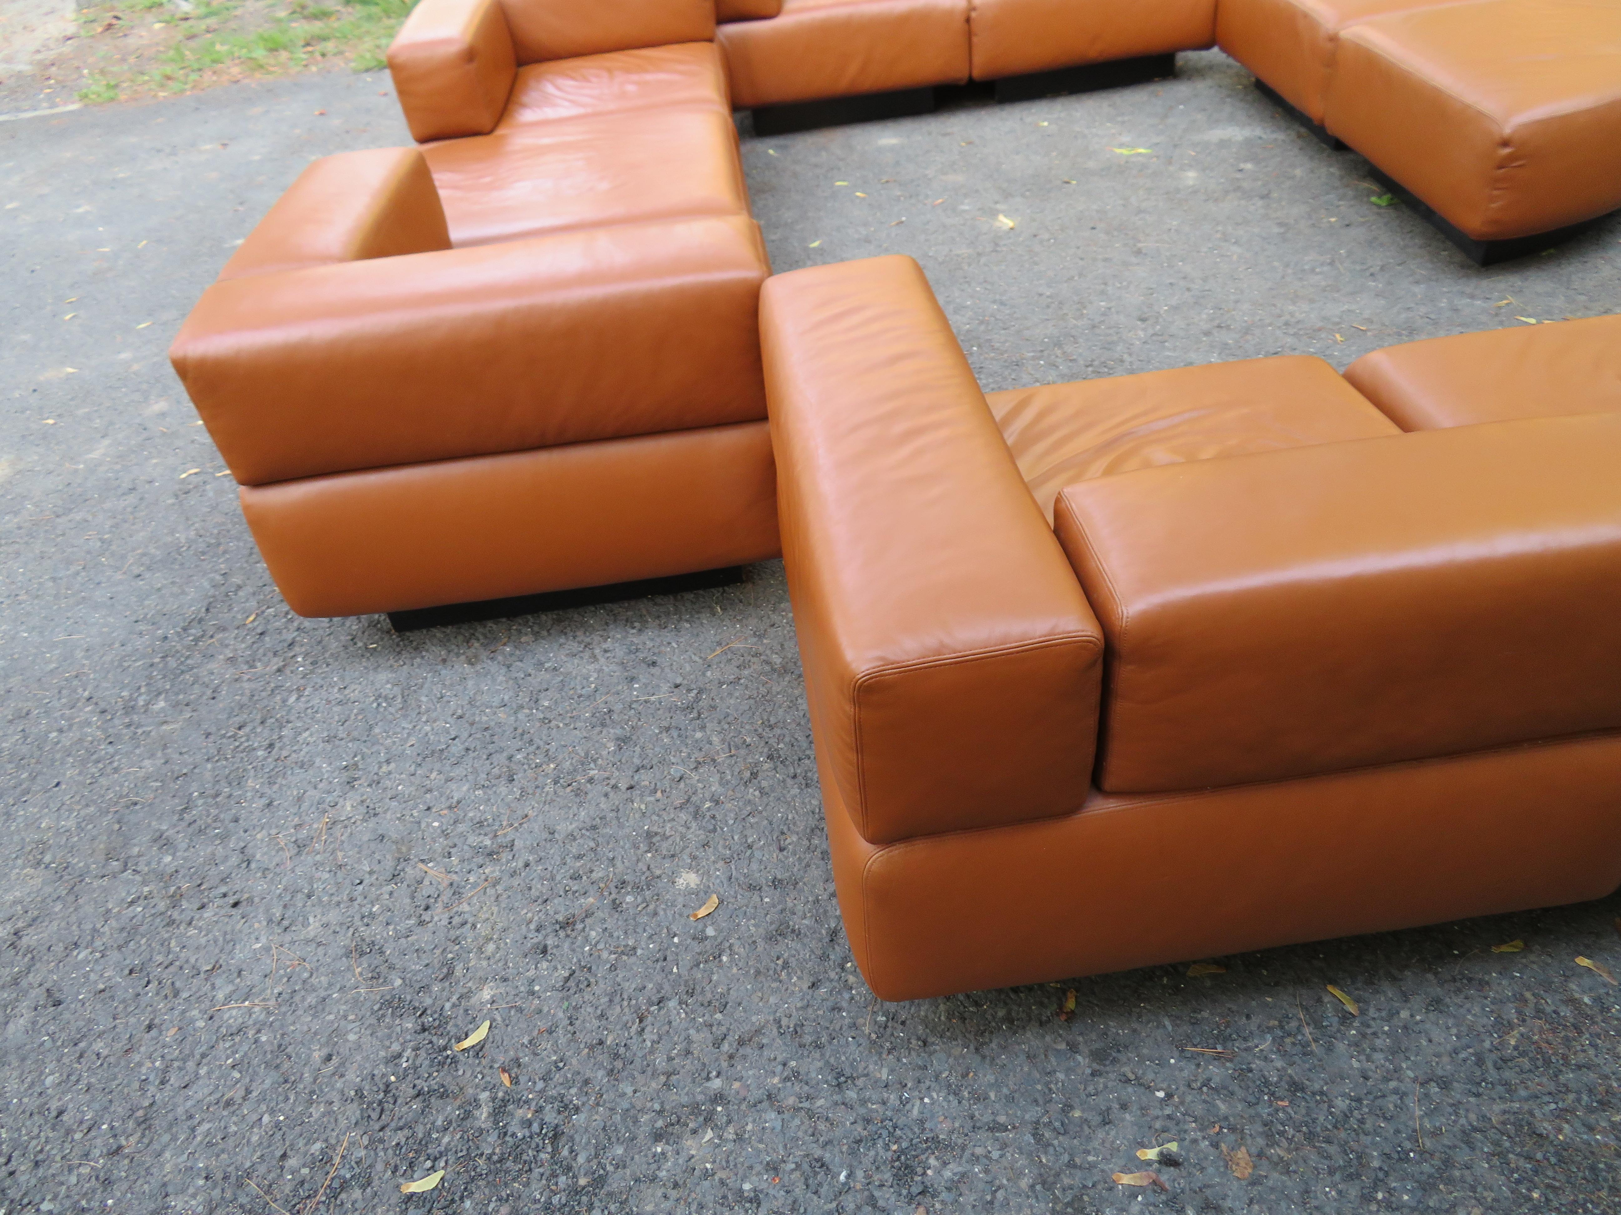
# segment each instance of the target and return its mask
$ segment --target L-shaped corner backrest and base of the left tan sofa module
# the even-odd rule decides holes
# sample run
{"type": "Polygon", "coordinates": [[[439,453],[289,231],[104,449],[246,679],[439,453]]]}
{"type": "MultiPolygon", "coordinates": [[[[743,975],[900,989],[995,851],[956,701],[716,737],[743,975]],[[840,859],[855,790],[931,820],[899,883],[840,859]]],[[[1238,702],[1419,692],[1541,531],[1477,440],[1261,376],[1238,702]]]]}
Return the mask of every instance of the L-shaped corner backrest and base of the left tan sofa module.
{"type": "Polygon", "coordinates": [[[456,245],[417,149],[314,162],[170,356],[302,616],[763,561],[747,214],[456,245]]]}

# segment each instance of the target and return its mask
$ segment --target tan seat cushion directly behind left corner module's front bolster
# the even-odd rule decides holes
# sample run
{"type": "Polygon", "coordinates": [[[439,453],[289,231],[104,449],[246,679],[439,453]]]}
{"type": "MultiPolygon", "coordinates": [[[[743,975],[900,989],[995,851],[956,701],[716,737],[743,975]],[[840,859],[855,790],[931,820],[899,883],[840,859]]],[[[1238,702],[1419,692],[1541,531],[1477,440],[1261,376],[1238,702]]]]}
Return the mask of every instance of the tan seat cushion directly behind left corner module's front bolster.
{"type": "Polygon", "coordinates": [[[747,215],[731,117],[632,110],[423,147],[456,246],[655,219],[747,215]]]}

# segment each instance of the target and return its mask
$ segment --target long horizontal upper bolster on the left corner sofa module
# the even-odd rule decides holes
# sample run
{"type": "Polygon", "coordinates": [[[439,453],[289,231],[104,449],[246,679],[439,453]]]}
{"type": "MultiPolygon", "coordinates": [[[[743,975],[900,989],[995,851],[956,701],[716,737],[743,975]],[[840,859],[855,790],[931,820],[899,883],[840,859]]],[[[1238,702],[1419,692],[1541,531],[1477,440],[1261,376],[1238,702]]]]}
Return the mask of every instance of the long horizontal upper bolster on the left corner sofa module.
{"type": "Polygon", "coordinates": [[[243,484],[765,416],[747,219],[220,282],[170,356],[243,484]]]}

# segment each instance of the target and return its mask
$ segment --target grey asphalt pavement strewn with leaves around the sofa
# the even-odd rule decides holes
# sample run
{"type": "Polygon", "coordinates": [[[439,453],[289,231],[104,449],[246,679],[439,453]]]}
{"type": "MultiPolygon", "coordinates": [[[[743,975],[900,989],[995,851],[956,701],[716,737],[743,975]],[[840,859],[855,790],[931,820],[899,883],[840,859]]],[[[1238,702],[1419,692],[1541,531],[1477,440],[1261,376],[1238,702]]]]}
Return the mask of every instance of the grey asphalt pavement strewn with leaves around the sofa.
{"type": "MultiPolygon", "coordinates": [[[[344,75],[0,126],[0,1212],[1616,1210],[1618,899],[882,1004],[778,564],[293,617],[164,352],[405,141],[344,75]]],[[[1478,271],[1219,53],[744,159],[778,269],[914,254],[987,389],[1621,311],[1621,224],[1478,271]]]]}

